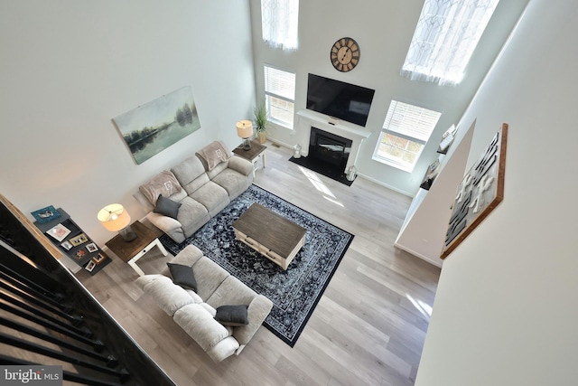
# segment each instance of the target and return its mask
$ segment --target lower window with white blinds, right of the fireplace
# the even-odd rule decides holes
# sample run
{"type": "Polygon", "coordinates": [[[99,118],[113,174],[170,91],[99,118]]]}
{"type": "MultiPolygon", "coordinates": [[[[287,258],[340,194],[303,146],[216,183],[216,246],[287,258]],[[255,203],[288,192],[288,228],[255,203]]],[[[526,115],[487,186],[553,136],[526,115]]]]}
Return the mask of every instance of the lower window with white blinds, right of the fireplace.
{"type": "Polygon", "coordinates": [[[411,172],[441,115],[392,100],[373,159],[411,172]]]}

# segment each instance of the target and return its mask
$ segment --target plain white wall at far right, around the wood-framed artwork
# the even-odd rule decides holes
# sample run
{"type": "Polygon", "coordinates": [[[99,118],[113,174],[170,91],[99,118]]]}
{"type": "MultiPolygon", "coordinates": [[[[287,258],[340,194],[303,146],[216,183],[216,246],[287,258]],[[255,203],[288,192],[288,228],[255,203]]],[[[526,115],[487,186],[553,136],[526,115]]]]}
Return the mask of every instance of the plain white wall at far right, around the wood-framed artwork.
{"type": "Polygon", "coordinates": [[[504,201],[443,263],[418,386],[576,384],[577,13],[530,1],[461,118],[471,162],[509,124],[504,201]]]}

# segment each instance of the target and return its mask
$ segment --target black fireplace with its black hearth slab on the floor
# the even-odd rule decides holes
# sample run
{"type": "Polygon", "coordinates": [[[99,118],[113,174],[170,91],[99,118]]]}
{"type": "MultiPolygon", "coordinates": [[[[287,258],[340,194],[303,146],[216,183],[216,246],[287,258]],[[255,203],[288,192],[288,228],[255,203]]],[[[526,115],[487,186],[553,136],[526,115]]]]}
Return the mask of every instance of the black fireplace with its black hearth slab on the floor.
{"type": "Polygon", "coordinates": [[[353,181],[347,179],[345,167],[351,153],[351,145],[352,141],[348,138],[311,127],[308,155],[300,158],[292,157],[290,161],[342,184],[350,185],[353,181]]]}

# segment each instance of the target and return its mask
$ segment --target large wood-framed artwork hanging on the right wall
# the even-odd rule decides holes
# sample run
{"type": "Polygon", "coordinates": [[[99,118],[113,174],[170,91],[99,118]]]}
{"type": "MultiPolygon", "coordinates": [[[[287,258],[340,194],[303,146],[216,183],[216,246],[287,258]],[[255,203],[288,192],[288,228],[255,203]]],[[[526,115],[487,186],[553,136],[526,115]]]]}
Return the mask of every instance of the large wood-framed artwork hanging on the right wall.
{"type": "Polygon", "coordinates": [[[508,124],[504,123],[461,180],[443,243],[442,259],[456,249],[504,199],[507,139],[508,124]]]}

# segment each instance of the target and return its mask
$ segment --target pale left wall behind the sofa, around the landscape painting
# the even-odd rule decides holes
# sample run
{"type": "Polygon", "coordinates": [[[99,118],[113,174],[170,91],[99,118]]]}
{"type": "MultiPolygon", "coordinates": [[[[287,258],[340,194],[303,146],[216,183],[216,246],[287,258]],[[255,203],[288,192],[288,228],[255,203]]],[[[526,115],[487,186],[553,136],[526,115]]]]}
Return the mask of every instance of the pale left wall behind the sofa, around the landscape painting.
{"type": "MultiPolygon", "coordinates": [[[[139,184],[250,118],[247,2],[0,2],[0,192],[24,213],[61,206],[100,245],[97,221],[139,184]],[[191,86],[200,130],[136,165],[111,118],[191,86]]],[[[30,216],[32,219],[32,216],[30,216]]]]}

